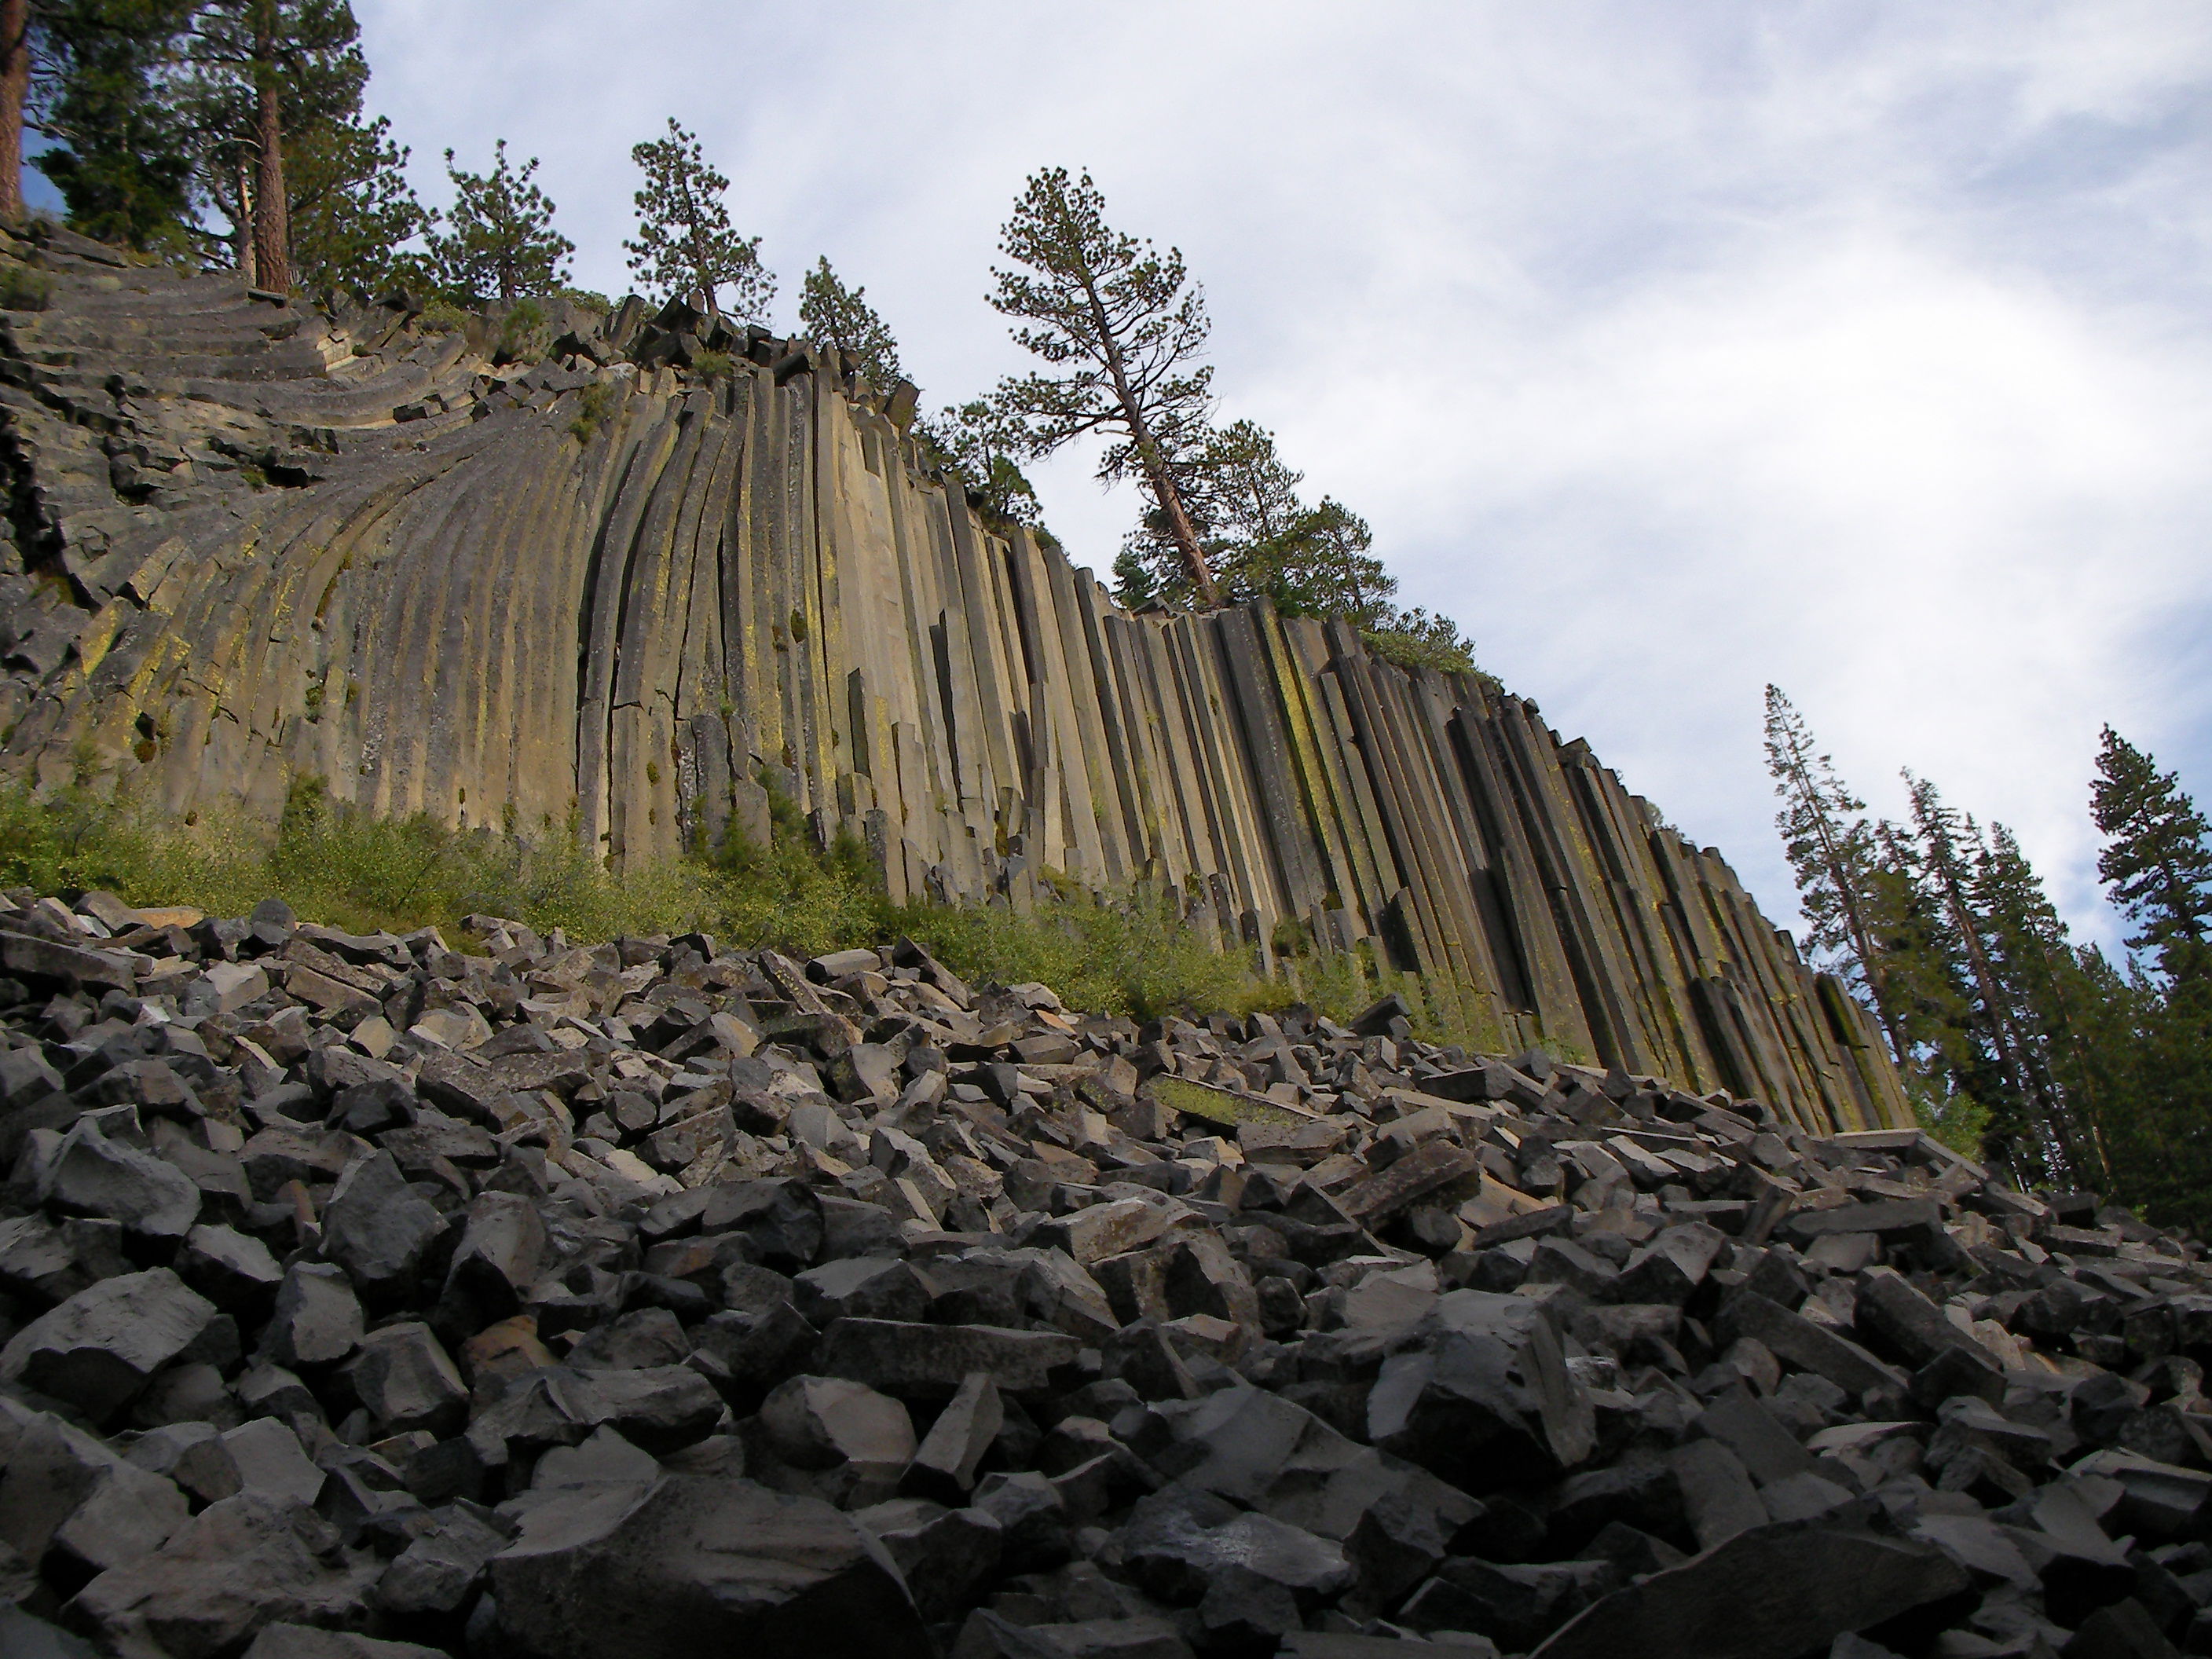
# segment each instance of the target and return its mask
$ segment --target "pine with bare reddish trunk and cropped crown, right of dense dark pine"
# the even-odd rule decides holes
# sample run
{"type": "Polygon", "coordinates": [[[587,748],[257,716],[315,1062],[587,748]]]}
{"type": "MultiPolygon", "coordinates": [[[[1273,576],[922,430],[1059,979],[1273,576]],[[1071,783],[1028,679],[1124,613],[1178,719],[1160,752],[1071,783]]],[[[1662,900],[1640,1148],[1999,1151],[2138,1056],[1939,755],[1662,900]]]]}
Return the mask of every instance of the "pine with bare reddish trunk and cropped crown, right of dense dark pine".
{"type": "Polygon", "coordinates": [[[204,0],[192,15],[186,102],[208,139],[201,177],[215,199],[237,197],[234,223],[250,221],[261,288],[292,288],[288,139],[361,111],[369,64],[358,35],[347,0],[204,0]]]}

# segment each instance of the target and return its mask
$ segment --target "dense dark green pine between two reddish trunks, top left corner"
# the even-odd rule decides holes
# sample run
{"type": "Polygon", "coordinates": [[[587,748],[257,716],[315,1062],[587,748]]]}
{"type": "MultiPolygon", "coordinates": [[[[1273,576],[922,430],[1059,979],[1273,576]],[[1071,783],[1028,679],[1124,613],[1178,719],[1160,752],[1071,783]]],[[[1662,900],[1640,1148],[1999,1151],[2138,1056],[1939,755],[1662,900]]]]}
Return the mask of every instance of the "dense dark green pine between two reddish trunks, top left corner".
{"type": "MultiPolygon", "coordinates": [[[[33,161],[62,192],[71,230],[164,259],[192,252],[197,135],[168,82],[195,2],[40,0],[29,9],[27,115],[55,139],[33,161]]],[[[0,177],[20,190],[20,168],[0,159],[0,177]]]]}

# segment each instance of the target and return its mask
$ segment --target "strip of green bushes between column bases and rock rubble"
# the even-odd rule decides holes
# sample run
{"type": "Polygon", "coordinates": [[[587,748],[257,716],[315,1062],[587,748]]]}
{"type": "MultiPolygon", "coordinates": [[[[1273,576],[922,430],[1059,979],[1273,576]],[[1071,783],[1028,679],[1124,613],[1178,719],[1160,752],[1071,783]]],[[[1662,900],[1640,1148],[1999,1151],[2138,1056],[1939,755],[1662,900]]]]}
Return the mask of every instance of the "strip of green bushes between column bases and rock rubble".
{"type": "Polygon", "coordinates": [[[1141,894],[1071,891],[1029,914],[1004,905],[894,907],[867,852],[814,847],[796,810],[776,812],[768,847],[606,869],[573,827],[538,841],[453,830],[427,816],[376,818],[294,783],[274,834],[215,814],[164,816],[84,790],[0,787],[0,887],[42,894],[102,887],[131,905],[192,905],[243,916],[283,898],[299,916],[356,933],[509,916],[588,945],[624,933],[699,929],[794,956],[887,945],[911,933],[975,982],[1051,984],[1091,1013],[1241,1013],[1283,1006],[1243,953],[1219,953],[1141,894]]]}

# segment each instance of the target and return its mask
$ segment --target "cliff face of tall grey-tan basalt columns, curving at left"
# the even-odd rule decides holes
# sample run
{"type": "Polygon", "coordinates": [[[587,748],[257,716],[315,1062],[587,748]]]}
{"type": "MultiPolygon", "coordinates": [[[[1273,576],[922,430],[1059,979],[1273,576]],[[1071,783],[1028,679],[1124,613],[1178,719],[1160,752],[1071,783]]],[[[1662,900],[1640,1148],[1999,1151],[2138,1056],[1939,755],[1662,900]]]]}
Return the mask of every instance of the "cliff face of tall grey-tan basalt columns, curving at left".
{"type": "Polygon", "coordinates": [[[1451,973],[1506,1046],[1909,1121],[1840,987],[1533,703],[1117,611],[916,471],[907,387],[635,303],[493,367],[482,325],[13,252],[51,285],[0,338],[15,776],[274,816],[319,774],[615,858],[759,834],[772,783],[894,896],[1146,880],[1263,953],[1451,973]]]}

